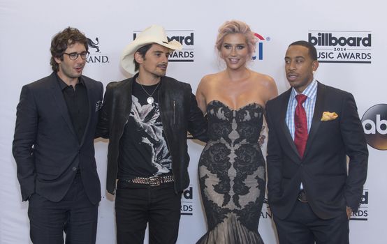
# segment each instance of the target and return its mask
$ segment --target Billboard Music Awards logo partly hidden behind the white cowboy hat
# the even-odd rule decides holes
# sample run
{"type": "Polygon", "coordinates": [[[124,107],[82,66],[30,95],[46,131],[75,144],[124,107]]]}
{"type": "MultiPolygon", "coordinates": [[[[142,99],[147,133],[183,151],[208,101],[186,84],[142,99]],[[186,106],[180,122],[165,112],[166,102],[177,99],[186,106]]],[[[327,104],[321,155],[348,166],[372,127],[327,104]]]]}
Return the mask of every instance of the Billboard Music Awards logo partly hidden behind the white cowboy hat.
{"type": "MultiPolygon", "coordinates": [[[[133,40],[141,31],[133,31],[133,40]]],[[[194,31],[180,30],[168,31],[166,30],[168,41],[177,40],[183,45],[181,50],[176,50],[170,54],[168,61],[170,62],[194,62],[194,31]]]]}

